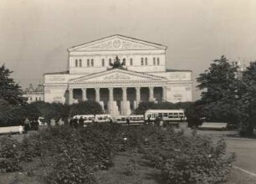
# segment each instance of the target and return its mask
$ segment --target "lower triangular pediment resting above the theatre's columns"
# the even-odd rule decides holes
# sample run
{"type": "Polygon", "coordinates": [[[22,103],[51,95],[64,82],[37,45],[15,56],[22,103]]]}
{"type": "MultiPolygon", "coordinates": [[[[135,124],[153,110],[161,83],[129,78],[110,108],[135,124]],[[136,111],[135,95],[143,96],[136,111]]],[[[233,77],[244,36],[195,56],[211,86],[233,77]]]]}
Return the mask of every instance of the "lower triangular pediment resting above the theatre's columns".
{"type": "Polygon", "coordinates": [[[69,83],[86,83],[86,82],[115,82],[115,81],[164,81],[166,78],[152,74],[139,73],[124,69],[110,69],[97,74],[85,75],[77,79],[70,79],[69,83]]]}

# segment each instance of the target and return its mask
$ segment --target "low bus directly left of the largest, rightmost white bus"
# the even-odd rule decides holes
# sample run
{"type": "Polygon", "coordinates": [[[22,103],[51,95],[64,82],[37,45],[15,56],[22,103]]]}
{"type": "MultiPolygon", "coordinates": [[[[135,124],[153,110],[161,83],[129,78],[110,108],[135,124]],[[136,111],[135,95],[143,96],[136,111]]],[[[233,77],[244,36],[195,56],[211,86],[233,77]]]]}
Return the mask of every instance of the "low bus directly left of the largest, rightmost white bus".
{"type": "Polygon", "coordinates": [[[127,125],[127,119],[129,119],[130,125],[143,125],[145,123],[144,115],[120,115],[115,117],[115,122],[127,125]]]}

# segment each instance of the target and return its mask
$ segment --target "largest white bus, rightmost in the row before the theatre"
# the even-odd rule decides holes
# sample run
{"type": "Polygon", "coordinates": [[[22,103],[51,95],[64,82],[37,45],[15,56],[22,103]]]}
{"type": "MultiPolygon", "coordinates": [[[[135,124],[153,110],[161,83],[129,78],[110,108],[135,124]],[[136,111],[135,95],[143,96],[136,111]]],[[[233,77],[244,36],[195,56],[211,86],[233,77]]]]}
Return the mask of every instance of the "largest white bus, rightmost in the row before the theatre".
{"type": "Polygon", "coordinates": [[[145,120],[156,120],[161,118],[164,122],[181,122],[187,120],[184,110],[146,110],[145,120]]]}

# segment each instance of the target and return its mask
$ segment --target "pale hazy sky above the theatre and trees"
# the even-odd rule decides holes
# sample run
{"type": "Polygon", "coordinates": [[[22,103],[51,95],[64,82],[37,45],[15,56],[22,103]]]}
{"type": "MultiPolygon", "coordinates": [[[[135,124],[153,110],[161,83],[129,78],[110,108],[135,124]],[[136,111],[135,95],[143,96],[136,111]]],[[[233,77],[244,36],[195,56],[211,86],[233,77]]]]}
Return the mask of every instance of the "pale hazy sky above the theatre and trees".
{"type": "Polygon", "coordinates": [[[122,34],[166,45],[166,67],[195,79],[221,55],[256,60],[255,10],[256,0],[0,0],[0,64],[24,89],[67,70],[69,47],[122,34]]]}

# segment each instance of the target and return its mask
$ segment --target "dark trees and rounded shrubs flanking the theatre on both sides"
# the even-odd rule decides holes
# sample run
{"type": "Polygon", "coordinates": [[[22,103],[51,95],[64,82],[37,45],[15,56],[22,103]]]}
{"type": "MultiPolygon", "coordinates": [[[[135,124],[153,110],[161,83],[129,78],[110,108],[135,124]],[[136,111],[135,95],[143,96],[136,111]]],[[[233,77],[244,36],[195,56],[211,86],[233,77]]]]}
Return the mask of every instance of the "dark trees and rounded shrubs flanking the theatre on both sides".
{"type": "MultiPolygon", "coordinates": [[[[92,101],[77,105],[44,102],[28,105],[22,97],[21,87],[10,77],[12,73],[4,64],[0,67],[0,125],[16,122],[24,116],[35,118],[44,115],[48,120],[60,116],[68,118],[75,113],[103,113],[100,105],[92,101]]],[[[253,134],[256,124],[256,62],[251,62],[244,71],[239,71],[238,66],[230,64],[225,56],[221,56],[199,74],[197,83],[197,88],[202,91],[200,100],[158,105],[142,102],[135,113],[144,114],[147,109],[185,109],[192,125],[202,120],[222,121],[239,125],[244,135],[253,134]]]]}

